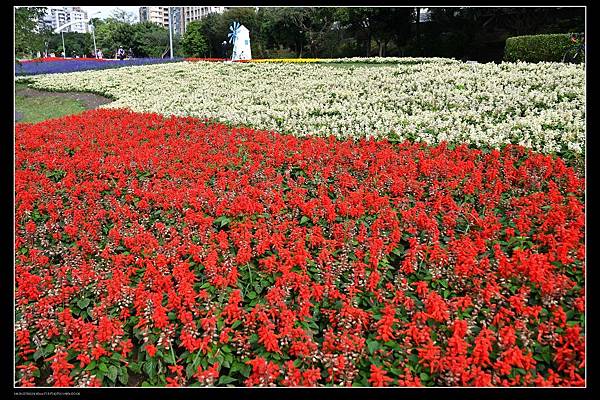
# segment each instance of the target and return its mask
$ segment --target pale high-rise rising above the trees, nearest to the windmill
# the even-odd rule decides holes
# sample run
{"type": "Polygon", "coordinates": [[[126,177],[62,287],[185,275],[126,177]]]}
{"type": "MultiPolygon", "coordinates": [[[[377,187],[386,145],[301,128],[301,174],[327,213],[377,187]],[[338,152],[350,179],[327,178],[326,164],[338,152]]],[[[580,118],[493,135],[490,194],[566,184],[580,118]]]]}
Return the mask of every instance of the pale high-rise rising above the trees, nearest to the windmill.
{"type": "MultiPolygon", "coordinates": [[[[173,18],[173,33],[182,35],[187,25],[212,13],[222,13],[225,7],[171,7],[173,18]]],[[[140,7],[140,22],[149,21],[169,27],[169,7],[150,6],[140,7]]]]}

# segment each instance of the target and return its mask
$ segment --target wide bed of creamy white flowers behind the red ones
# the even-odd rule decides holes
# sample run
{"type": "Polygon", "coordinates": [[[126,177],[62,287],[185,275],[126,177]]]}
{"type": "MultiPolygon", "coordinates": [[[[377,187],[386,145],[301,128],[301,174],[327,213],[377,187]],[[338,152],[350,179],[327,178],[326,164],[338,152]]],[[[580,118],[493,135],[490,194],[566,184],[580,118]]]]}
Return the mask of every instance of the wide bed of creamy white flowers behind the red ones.
{"type": "Polygon", "coordinates": [[[39,89],[117,99],[103,107],[212,118],[300,136],[515,143],[544,153],[582,153],[585,147],[583,65],[181,62],[28,79],[39,89]]]}

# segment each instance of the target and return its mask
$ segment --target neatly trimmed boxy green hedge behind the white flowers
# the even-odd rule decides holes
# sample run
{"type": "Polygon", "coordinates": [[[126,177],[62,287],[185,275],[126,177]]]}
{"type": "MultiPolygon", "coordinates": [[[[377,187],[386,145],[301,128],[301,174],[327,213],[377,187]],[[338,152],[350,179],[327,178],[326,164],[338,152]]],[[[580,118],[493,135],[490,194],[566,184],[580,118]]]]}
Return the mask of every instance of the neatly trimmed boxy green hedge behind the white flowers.
{"type": "Polygon", "coordinates": [[[510,37],[506,39],[504,60],[561,62],[572,45],[569,33],[510,37]]]}

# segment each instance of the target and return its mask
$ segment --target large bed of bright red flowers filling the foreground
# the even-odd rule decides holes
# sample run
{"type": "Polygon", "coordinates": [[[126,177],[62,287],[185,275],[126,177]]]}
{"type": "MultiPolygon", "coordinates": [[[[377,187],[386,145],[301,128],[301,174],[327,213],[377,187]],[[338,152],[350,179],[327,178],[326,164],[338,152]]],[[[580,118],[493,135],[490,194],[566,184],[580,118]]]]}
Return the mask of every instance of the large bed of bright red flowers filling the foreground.
{"type": "Polygon", "coordinates": [[[584,180],[522,147],[16,128],[19,385],[584,385],[584,180]]]}

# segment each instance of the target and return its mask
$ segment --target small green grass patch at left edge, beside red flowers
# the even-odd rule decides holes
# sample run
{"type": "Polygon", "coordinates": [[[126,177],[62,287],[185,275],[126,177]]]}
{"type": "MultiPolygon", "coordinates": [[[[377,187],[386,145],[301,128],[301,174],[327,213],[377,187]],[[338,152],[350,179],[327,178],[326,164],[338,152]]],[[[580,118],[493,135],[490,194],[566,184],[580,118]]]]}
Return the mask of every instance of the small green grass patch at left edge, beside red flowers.
{"type": "Polygon", "coordinates": [[[15,109],[23,115],[19,122],[40,122],[86,109],[82,102],[58,96],[32,96],[26,94],[26,84],[15,85],[15,109]]]}

